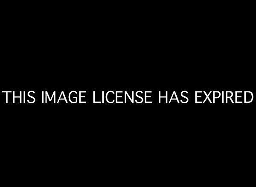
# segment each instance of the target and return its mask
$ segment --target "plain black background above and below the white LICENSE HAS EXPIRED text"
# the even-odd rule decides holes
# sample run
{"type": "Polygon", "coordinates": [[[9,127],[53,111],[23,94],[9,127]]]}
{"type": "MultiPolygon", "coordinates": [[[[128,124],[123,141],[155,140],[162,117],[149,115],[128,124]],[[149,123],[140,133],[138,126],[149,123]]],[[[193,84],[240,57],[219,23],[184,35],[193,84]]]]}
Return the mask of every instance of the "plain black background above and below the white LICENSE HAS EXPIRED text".
{"type": "Polygon", "coordinates": [[[255,101],[196,105],[193,96],[255,94],[247,7],[42,7],[3,13],[1,91],[152,90],[154,104],[2,102],[5,176],[131,184],[250,178],[255,101]],[[157,91],[183,90],[187,105],[157,104],[157,91]]]}

